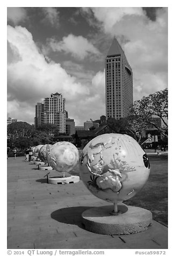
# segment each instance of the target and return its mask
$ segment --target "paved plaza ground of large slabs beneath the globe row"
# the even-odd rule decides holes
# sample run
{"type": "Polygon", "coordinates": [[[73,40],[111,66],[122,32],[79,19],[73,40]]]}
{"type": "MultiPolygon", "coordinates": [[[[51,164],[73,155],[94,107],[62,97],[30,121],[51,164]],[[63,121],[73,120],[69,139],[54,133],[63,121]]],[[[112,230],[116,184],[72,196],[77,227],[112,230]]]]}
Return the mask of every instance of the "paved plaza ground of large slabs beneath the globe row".
{"type": "Polygon", "coordinates": [[[8,159],[8,249],[167,248],[167,227],[156,221],[147,231],[129,235],[86,231],[82,212],[110,203],[93,196],[82,181],[48,184],[43,176],[57,172],[38,170],[24,159],[8,159]]]}

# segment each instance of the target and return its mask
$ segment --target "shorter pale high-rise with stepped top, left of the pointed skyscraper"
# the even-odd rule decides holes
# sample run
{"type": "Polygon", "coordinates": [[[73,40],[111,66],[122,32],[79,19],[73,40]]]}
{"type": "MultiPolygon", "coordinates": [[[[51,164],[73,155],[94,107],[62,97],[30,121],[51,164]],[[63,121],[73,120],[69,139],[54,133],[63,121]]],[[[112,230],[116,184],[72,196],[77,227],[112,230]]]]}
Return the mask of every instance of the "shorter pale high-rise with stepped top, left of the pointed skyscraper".
{"type": "Polygon", "coordinates": [[[65,132],[65,98],[62,94],[51,94],[44,99],[41,124],[56,124],[59,132],[65,132]]]}

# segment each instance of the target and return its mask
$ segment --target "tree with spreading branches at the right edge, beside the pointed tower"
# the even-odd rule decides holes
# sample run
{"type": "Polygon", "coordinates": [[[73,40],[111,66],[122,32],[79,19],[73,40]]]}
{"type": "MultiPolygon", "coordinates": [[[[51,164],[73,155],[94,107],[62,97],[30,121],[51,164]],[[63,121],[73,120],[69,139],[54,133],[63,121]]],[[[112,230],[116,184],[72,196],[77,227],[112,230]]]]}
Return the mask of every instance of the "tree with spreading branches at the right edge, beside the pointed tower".
{"type": "Polygon", "coordinates": [[[135,101],[130,109],[130,116],[139,127],[153,125],[155,129],[167,137],[168,90],[157,91],[141,100],[135,101]],[[163,126],[154,122],[153,116],[161,118],[163,126]]]}

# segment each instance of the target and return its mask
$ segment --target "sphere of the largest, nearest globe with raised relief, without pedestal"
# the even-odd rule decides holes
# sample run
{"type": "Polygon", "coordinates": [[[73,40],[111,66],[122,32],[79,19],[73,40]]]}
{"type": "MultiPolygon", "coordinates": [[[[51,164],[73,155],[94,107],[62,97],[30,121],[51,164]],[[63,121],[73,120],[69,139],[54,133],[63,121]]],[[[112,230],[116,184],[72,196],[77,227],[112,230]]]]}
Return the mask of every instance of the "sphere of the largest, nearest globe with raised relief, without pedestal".
{"type": "Polygon", "coordinates": [[[92,139],[79,162],[85,186],[94,196],[112,203],[133,197],[150,173],[147,154],[126,134],[108,133],[92,139]]]}

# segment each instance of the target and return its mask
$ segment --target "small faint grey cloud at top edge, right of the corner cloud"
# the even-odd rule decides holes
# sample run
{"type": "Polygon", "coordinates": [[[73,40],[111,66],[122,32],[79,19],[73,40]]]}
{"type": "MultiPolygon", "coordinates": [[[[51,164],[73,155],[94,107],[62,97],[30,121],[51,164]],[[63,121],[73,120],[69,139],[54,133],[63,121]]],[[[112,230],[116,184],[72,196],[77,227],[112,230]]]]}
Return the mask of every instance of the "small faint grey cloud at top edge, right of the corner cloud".
{"type": "Polygon", "coordinates": [[[43,7],[43,13],[45,14],[45,18],[43,22],[51,24],[54,27],[59,26],[59,11],[54,7],[43,7]]]}

